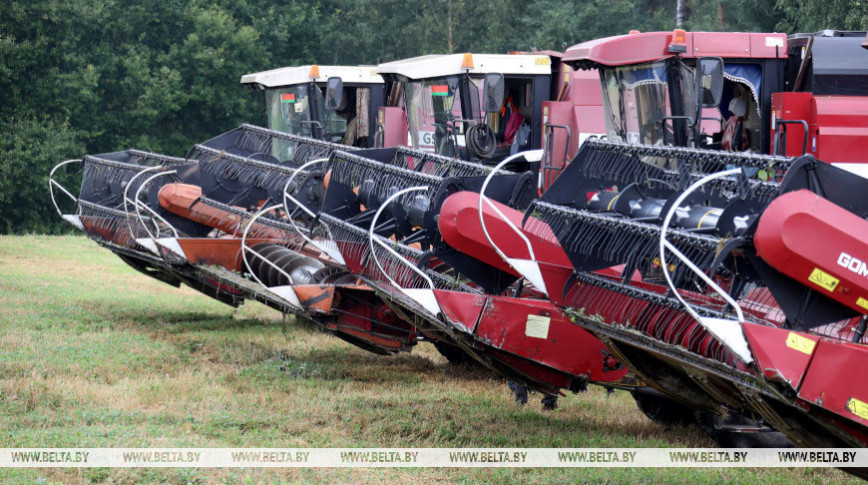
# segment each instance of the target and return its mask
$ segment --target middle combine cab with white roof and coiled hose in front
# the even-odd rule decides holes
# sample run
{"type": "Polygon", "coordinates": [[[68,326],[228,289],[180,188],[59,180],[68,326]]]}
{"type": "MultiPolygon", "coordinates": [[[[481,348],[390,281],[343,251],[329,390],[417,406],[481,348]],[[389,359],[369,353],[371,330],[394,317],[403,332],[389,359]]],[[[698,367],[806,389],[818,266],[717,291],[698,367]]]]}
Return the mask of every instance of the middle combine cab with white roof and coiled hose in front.
{"type": "Polygon", "coordinates": [[[557,58],[451,54],[378,65],[389,87],[388,104],[380,110],[385,146],[487,165],[539,149],[552,59],[557,58]]]}

